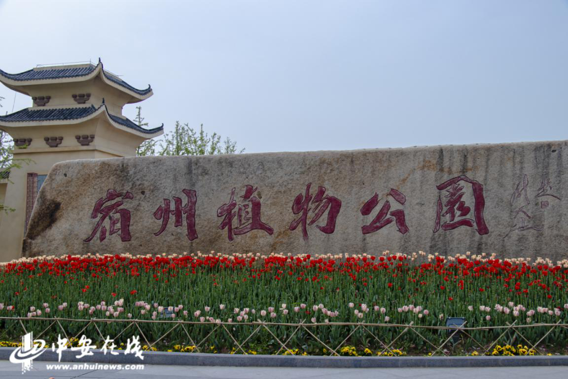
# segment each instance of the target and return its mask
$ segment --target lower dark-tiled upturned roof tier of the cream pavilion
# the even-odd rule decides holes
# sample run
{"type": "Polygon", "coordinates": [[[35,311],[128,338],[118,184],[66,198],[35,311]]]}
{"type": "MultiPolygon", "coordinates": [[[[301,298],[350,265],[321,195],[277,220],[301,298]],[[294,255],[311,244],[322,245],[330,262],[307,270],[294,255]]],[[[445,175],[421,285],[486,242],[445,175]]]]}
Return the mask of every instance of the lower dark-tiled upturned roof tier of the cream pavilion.
{"type": "Polygon", "coordinates": [[[137,132],[137,134],[148,136],[149,138],[160,135],[164,131],[164,124],[157,128],[145,129],[126,117],[111,114],[108,112],[108,108],[104,102],[98,108],[93,105],[87,107],[51,109],[44,107],[26,108],[15,113],[0,116],[0,126],[18,126],[17,123],[31,124],[37,122],[54,122],[56,124],[64,122],[65,124],[74,124],[95,118],[101,114],[105,115],[108,122],[115,127],[123,130],[127,128],[137,132]]]}

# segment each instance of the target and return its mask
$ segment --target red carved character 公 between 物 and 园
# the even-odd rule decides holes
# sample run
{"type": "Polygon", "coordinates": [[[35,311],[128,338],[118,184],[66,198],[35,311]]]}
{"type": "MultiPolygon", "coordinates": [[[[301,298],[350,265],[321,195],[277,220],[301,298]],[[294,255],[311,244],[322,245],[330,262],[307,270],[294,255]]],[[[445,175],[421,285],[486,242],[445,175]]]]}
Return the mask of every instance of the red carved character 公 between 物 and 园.
{"type": "MultiPolygon", "coordinates": [[[[395,199],[395,201],[398,202],[400,205],[404,205],[404,203],[406,202],[406,196],[404,196],[402,192],[395,190],[394,188],[390,189],[388,195],[393,199],[395,199]]],[[[364,216],[369,215],[375,209],[378,203],[379,203],[379,195],[375,193],[373,197],[371,197],[365,203],[365,205],[362,206],[361,214],[364,216]]],[[[390,201],[386,200],[385,203],[383,203],[381,210],[379,210],[377,216],[375,216],[375,218],[373,219],[373,221],[371,221],[369,225],[361,227],[362,233],[369,234],[376,232],[377,230],[380,230],[381,228],[387,226],[388,224],[394,221],[396,223],[396,228],[398,228],[398,231],[401,234],[406,234],[408,232],[408,226],[406,225],[406,218],[404,216],[404,211],[401,209],[390,211],[390,208],[391,208],[390,201]]]]}

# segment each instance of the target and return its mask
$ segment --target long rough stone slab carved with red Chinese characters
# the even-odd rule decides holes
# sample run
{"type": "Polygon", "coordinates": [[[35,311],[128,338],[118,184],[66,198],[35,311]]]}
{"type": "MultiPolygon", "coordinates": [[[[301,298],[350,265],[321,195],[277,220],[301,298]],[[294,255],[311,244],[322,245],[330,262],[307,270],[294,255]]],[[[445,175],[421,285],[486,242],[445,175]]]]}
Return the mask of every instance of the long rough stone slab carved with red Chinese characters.
{"type": "Polygon", "coordinates": [[[566,259],[567,144],[67,161],[53,166],[40,190],[23,253],[422,250],[566,259]],[[291,224],[302,216],[308,183],[312,198],[306,207],[304,240],[301,220],[295,230],[291,224]],[[248,191],[247,185],[252,186],[248,191]],[[320,202],[318,186],[325,188],[320,202]],[[231,203],[233,188],[235,207],[228,210],[233,218],[225,219],[223,205],[231,203]],[[122,195],[103,203],[91,218],[107,190],[122,195]],[[187,227],[193,220],[190,191],[196,196],[195,230],[187,227]],[[375,193],[377,201],[372,203],[375,193]],[[178,214],[174,197],[179,198],[178,214]],[[123,204],[117,213],[105,212],[119,201],[123,204]],[[386,201],[390,209],[381,217],[386,201]],[[172,212],[165,225],[168,209],[172,212]],[[333,230],[330,215],[337,209],[333,230]],[[318,210],[323,213],[310,225],[318,210]],[[176,217],[181,226],[175,226],[176,217]],[[232,241],[223,224],[232,225],[232,241]],[[165,230],[159,234],[162,225],[165,230]],[[106,238],[101,240],[103,228],[106,238]]]}

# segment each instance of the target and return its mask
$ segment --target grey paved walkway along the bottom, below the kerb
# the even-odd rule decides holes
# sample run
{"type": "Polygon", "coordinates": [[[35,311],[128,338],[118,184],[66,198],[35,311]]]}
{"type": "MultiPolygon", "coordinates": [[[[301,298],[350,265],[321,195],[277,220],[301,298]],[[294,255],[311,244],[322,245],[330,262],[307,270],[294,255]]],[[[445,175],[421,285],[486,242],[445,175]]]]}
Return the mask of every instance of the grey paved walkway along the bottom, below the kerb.
{"type": "Polygon", "coordinates": [[[141,370],[47,370],[53,363],[35,361],[30,372],[22,375],[21,365],[0,361],[0,379],[7,378],[112,378],[112,379],[152,379],[152,378],[206,378],[206,379],[479,379],[515,378],[534,379],[568,378],[568,366],[545,367],[488,367],[488,368],[255,368],[255,367],[211,367],[211,366],[160,366],[146,365],[141,370]]]}

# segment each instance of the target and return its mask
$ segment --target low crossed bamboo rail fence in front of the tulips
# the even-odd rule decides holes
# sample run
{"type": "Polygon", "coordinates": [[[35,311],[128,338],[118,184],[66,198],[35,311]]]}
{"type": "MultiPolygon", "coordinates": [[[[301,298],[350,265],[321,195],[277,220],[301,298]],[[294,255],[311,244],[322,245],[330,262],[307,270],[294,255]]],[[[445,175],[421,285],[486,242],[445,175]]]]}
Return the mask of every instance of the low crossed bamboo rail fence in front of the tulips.
{"type": "MultiPolygon", "coordinates": [[[[203,343],[209,338],[209,336],[211,336],[216,330],[218,330],[219,328],[221,328],[222,330],[224,330],[227,335],[229,336],[229,338],[231,338],[231,340],[233,341],[233,343],[235,343],[236,347],[243,353],[243,354],[248,354],[247,351],[245,351],[245,349],[243,348],[243,345],[245,343],[247,343],[247,341],[252,338],[252,336],[254,336],[259,330],[264,329],[266,331],[268,331],[268,333],[270,335],[273,336],[273,338],[278,341],[278,343],[281,345],[280,349],[276,352],[276,354],[278,355],[282,350],[285,350],[287,352],[289,352],[290,354],[294,354],[293,351],[291,351],[291,349],[289,347],[287,347],[287,343],[290,342],[290,340],[293,338],[293,336],[300,330],[305,330],[308,334],[310,334],[312,336],[312,338],[314,338],[316,341],[318,341],[319,344],[321,344],[323,347],[325,347],[326,349],[328,349],[329,351],[329,355],[335,355],[335,356],[339,356],[339,352],[340,348],[346,343],[346,341],[348,341],[349,337],[352,336],[357,330],[359,330],[360,328],[364,329],[368,334],[370,334],[375,340],[378,341],[379,344],[381,344],[383,350],[381,352],[381,355],[383,355],[385,352],[389,351],[390,353],[394,352],[392,351],[392,346],[393,344],[399,339],[401,338],[404,334],[406,334],[409,330],[411,332],[414,332],[417,336],[419,336],[421,339],[423,339],[426,343],[428,343],[429,345],[431,345],[433,348],[435,348],[435,350],[431,353],[430,356],[435,356],[438,352],[442,352],[445,356],[448,356],[448,353],[446,353],[444,350],[442,350],[442,348],[444,348],[444,346],[446,344],[448,344],[448,342],[450,340],[452,340],[453,336],[456,335],[458,332],[460,332],[461,334],[469,337],[471,340],[473,340],[475,342],[475,344],[479,345],[479,347],[481,347],[481,349],[483,349],[484,353],[487,353],[491,350],[492,347],[494,347],[494,345],[496,343],[498,343],[498,341],[507,334],[507,332],[512,331],[514,333],[515,336],[519,336],[520,339],[523,339],[528,345],[531,346],[531,349],[533,349],[535,352],[538,352],[540,354],[542,354],[542,351],[540,351],[537,346],[546,338],[546,336],[548,336],[555,328],[565,328],[568,329],[568,324],[565,323],[561,323],[561,320],[558,320],[557,323],[538,323],[538,324],[527,324],[527,325],[516,325],[516,321],[513,323],[508,323],[506,326],[484,326],[484,327],[466,327],[465,324],[463,323],[461,326],[452,326],[452,327],[447,327],[447,326],[423,326],[423,325],[414,325],[414,322],[411,322],[409,324],[395,324],[395,323],[353,323],[353,322],[328,322],[328,323],[305,323],[303,320],[300,323],[277,323],[277,322],[261,322],[261,321],[252,321],[252,322],[235,322],[235,323],[229,323],[229,322],[210,322],[210,321],[204,321],[204,322],[200,322],[200,321],[184,321],[184,320],[138,320],[138,319],[98,319],[98,318],[92,318],[92,319],[72,319],[72,318],[45,318],[45,317],[6,317],[6,316],[0,316],[0,320],[17,320],[18,323],[20,324],[20,326],[22,327],[24,333],[27,333],[28,331],[26,330],[26,326],[24,325],[23,321],[31,321],[31,320],[43,320],[43,321],[51,321],[51,323],[49,324],[49,326],[47,328],[45,328],[39,335],[35,336],[35,338],[40,338],[41,335],[43,335],[45,332],[47,332],[52,326],[56,325],[57,327],[60,328],[60,330],[62,331],[63,335],[65,336],[66,339],[70,340],[69,335],[67,334],[67,332],[65,331],[65,328],[62,326],[61,322],[83,322],[86,323],[85,326],[83,326],[81,328],[81,330],[79,332],[77,332],[77,334],[74,336],[74,338],[78,338],[81,333],[83,331],[86,330],[87,327],[89,327],[91,324],[95,327],[95,330],[97,330],[98,335],[101,336],[102,340],[105,340],[105,336],[102,334],[101,329],[97,326],[97,324],[100,323],[128,323],[128,325],[126,327],[124,327],[122,329],[122,331],[114,336],[114,339],[119,338],[120,335],[124,334],[124,332],[126,332],[129,328],[131,328],[132,326],[135,326],[136,329],[140,332],[140,335],[142,336],[142,338],[144,339],[145,343],[148,345],[148,348],[152,348],[154,345],[156,345],[159,341],[161,341],[162,339],[164,339],[167,335],[169,335],[171,332],[173,332],[174,330],[176,330],[178,327],[181,327],[182,330],[185,332],[185,335],[187,336],[187,338],[190,340],[191,344],[193,344],[195,346],[195,350],[197,352],[202,352],[200,347],[203,346],[203,343]],[[148,338],[145,336],[144,332],[142,331],[142,329],[140,328],[140,324],[146,324],[146,323],[158,323],[158,324],[168,324],[168,325],[172,325],[172,327],[170,327],[168,329],[168,331],[166,331],[164,334],[162,334],[160,336],[160,338],[154,340],[152,343],[148,340],[148,338]],[[201,340],[199,341],[199,343],[196,343],[194,341],[193,338],[191,338],[190,333],[187,331],[186,326],[189,325],[200,325],[200,326],[204,326],[204,325],[209,325],[209,326],[213,326],[214,328],[212,328],[212,330],[201,340]],[[239,326],[243,326],[243,325],[248,325],[248,326],[253,326],[255,327],[253,332],[241,343],[239,343],[239,341],[237,341],[235,339],[235,337],[231,334],[231,332],[229,331],[229,329],[227,328],[227,325],[229,326],[235,326],[235,325],[239,325],[239,326]],[[291,327],[295,327],[294,332],[292,332],[292,334],[286,339],[286,341],[282,341],[280,338],[278,338],[277,335],[274,334],[274,332],[272,330],[270,330],[269,327],[276,327],[276,326],[291,326],[291,327]],[[329,347],[328,344],[324,343],[324,341],[321,341],[318,336],[316,336],[310,329],[314,329],[317,327],[321,327],[321,326],[336,326],[336,327],[340,327],[340,326],[352,326],[354,327],[353,330],[345,337],[345,339],[343,339],[341,341],[341,343],[339,345],[337,345],[337,347],[332,348],[329,347]],[[396,338],[392,339],[392,341],[390,341],[389,344],[386,344],[384,341],[382,341],[381,339],[379,339],[377,337],[376,334],[374,334],[370,328],[375,328],[375,327],[388,327],[388,328],[402,328],[402,332],[400,332],[396,338]],[[519,330],[524,330],[524,329],[528,329],[528,328],[535,328],[535,327],[548,327],[549,330],[548,332],[546,332],[546,334],[544,336],[542,336],[536,343],[532,343],[531,341],[529,341],[527,338],[525,338],[525,336],[523,336],[523,334],[521,334],[521,332],[519,330]],[[482,343],[480,343],[478,340],[476,340],[475,338],[473,338],[473,336],[471,335],[473,331],[489,331],[489,330],[500,330],[500,329],[504,329],[504,331],[499,335],[498,338],[496,338],[490,345],[483,345],[482,343]],[[443,343],[439,346],[436,346],[434,343],[432,343],[432,341],[428,340],[427,338],[425,338],[421,333],[420,330],[446,330],[446,331],[451,331],[452,333],[448,336],[448,338],[446,338],[443,343]]],[[[113,340],[114,340],[113,339],[113,340]]]]}

